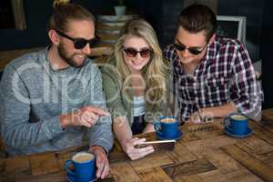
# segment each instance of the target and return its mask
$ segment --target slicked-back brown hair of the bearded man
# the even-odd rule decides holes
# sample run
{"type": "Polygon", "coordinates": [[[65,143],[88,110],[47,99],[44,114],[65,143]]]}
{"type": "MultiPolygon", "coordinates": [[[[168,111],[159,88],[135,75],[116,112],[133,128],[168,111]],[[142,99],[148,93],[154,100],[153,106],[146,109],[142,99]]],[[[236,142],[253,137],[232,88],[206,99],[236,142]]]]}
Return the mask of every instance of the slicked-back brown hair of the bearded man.
{"type": "Polygon", "coordinates": [[[54,7],[47,24],[47,31],[58,30],[66,32],[71,20],[88,20],[95,24],[95,17],[85,7],[76,4],[59,4],[54,7]]]}

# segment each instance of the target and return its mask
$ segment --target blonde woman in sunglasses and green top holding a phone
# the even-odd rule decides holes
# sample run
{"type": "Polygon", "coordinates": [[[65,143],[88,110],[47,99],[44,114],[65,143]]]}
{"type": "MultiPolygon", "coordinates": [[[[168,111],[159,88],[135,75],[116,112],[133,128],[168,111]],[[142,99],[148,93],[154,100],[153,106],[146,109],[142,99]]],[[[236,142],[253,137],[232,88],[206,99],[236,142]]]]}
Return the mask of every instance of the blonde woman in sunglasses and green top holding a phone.
{"type": "Polygon", "coordinates": [[[153,120],[167,111],[167,66],[153,27],[143,19],[128,21],[102,74],[113,130],[123,150],[132,160],[154,152],[153,147],[136,148],[145,138],[133,138],[155,131],[153,120]]]}

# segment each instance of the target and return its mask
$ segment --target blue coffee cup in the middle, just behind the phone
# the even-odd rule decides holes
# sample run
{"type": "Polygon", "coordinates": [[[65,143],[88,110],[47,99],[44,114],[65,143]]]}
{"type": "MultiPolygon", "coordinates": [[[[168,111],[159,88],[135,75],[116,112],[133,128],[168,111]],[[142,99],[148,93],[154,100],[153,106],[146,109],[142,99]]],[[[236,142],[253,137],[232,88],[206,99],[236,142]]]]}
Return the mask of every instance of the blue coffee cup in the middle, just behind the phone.
{"type": "Polygon", "coordinates": [[[160,136],[164,138],[176,138],[178,132],[177,118],[174,116],[161,116],[159,121],[154,122],[154,127],[160,136]]]}

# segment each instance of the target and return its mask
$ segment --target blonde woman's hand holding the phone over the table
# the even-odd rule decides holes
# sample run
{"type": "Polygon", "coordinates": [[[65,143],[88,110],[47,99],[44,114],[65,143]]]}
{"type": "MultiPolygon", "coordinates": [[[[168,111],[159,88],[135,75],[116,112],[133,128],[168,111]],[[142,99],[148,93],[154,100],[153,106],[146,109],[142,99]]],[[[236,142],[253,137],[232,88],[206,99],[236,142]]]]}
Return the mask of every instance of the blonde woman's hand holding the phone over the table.
{"type": "Polygon", "coordinates": [[[155,150],[153,147],[141,147],[137,148],[136,146],[142,144],[146,141],[146,138],[132,138],[127,140],[123,145],[123,150],[126,152],[128,157],[132,160],[136,160],[138,158],[142,158],[147,156],[148,154],[153,153],[155,150]]]}

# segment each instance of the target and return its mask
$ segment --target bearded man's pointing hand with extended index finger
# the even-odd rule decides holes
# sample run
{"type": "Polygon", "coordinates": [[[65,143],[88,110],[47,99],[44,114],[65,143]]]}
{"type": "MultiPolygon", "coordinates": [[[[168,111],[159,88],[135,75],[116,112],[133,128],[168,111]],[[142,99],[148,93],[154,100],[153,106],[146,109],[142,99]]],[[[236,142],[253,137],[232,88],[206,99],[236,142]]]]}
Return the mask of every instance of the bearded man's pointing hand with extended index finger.
{"type": "Polygon", "coordinates": [[[96,106],[84,106],[73,113],[60,115],[59,122],[63,128],[66,126],[91,127],[96,124],[99,116],[110,116],[110,114],[96,106]]]}

